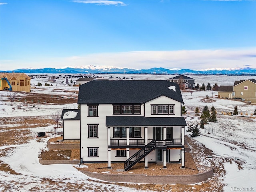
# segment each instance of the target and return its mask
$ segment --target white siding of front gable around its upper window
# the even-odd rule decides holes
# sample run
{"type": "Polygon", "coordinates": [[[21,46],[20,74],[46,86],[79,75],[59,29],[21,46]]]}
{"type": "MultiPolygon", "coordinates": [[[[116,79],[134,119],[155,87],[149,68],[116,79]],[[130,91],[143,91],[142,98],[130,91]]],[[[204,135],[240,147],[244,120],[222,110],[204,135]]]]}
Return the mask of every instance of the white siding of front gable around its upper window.
{"type": "Polygon", "coordinates": [[[180,117],[180,102],[170,99],[166,96],[160,96],[154,100],[151,100],[145,103],[145,117],[180,117]],[[151,105],[174,105],[174,114],[170,115],[152,115],[151,114],[151,105]]]}

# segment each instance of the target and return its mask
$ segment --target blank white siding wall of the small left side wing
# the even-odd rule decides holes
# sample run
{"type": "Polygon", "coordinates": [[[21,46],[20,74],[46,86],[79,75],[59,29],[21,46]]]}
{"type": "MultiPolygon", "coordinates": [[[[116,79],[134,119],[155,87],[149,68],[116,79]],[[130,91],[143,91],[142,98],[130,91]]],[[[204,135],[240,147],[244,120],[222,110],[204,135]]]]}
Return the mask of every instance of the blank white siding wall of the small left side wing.
{"type": "Polygon", "coordinates": [[[63,121],[63,139],[80,139],[80,120],[63,121]]]}

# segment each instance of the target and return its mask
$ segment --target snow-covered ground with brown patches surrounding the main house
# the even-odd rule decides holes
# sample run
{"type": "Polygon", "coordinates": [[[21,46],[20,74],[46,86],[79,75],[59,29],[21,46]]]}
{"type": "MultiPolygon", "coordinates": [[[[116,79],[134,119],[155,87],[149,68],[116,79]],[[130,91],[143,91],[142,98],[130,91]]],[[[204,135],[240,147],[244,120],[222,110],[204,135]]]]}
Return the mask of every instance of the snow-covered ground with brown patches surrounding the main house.
{"type": "MultiPolygon", "coordinates": [[[[126,76],[128,78],[135,78],[136,80],[164,80],[173,76],[160,75],[134,75],[134,74],[100,74],[99,76],[126,76]]],[[[256,76],[193,76],[196,83],[199,84],[214,84],[218,85],[232,85],[234,80],[240,79],[256,79],[256,76]]],[[[72,78],[71,78],[72,79],[72,78]]],[[[33,79],[31,84],[41,82],[44,85],[46,79],[33,79]]],[[[76,79],[72,79],[73,81],[76,79]]],[[[35,86],[32,88],[33,93],[41,94],[59,94],[60,96],[71,95],[77,96],[75,92],[78,87],[67,86],[61,83],[63,80],[50,82],[53,86],[35,86]],[[58,88],[58,90],[56,90],[58,88]],[[66,92],[66,90],[71,92],[66,92]]],[[[20,96],[24,93],[19,93],[20,96]]],[[[44,105],[44,104],[28,104],[23,105],[20,102],[14,102],[10,106],[10,101],[6,100],[7,92],[0,91],[2,100],[0,100],[0,117],[18,117],[18,116],[43,116],[49,115],[52,110],[62,108],[77,108],[77,104],[62,104],[62,105],[44,105]],[[19,109],[18,109],[19,107],[19,109]],[[14,108],[14,109],[13,109],[14,108]]],[[[212,97],[217,95],[217,92],[202,92],[194,91],[182,92],[184,105],[188,110],[186,114],[187,123],[192,124],[199,122],[198,116],[194,116],[194,109],[208,106],[209,110],[214,106],[217,110],[216,123],[209,123],[206,129],[201,130],[201,136],[194,138],[198,142],[204,144],[211,149],[216,160],[222,158],[235,159],[241,162],[240,169],[234,161],[224,163],[226,175],[223,177],[224,191],[255,191],[256,190],[256,119],[255,115],[251,116],[256,108],[256,105],[247,104],[241,101],[234,101],[228,99],[218,99],[212,97]],[[206,95],[209,100],[206,100],[206,95]],[[227,112],[233,112],[234,106],[238,106],[238,112],[241,114],[248,114],[246,116],[228,116],[227,112]],[[251,118],[249,117],[251,116],[251,118]],[[193,117],[193,118],[191,118],[193,117]],[[233,163],[232,163],[233,162],[233,163]],[[231,164],[232,163],[232,164],[231,164]]],[[[0,98],[0,99],[1,99],[0,98]]],[[[3,126],[0,122],[0,126],[3,126]]],[[[32,135],[37,132],[48,131],[52,126],[31,128],[32,135]]],[[[0,134],[2,130],[0,128],[0,134]]],[[[186,133],[188,134],[188,133],[186,133]]],[[[73,165],[55,164],[55,165],[41,165],[38,162],[38,154],[40,150],[46,148],[46,140],[37,138],[29,140],[28,143],[19,145],[0,146],[0,151],[12,148],[11,152],[5,156],[0,156],[0,162],[4,162],[10,166],[18,174],[9,174],[0,171],[0,191],[6,190],[3,185],[10,186],[10,190],[6,191],[138,191],[136,188],[128,188],[125,186],[116,186],[115,184],[93,182],[86,175],[79,172],[73,165]],[[52,181],[58,181],[55,188],[49,189],[47,186],[52,181]],[[102,190],[100,190],[102,189],[102,190]]],[[[1,153],[0,153],[1,154],[1,153]]],[[[140,190],[141,191],[141,190],[140,190]]]]}

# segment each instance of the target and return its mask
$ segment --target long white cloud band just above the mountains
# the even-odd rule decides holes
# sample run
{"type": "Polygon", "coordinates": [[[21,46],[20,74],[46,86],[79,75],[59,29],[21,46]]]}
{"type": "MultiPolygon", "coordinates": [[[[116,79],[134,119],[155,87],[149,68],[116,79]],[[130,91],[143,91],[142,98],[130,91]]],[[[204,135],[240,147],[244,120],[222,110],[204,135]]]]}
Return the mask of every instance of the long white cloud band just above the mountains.
{"type": "Polygon", "coordinates": [[[97,53],[66,58],[30,58],[1,61],[1,70],[63,68],[64,66],[115,66],[149,69],[163,67],[205,70],[208,68],[256,68],[256,48],[241,50],[177,50],[97,53]],[[18,65],[17,65],[18,63],[18,65]],[[5,67],[5,68],[4,68],[5,67]]]}

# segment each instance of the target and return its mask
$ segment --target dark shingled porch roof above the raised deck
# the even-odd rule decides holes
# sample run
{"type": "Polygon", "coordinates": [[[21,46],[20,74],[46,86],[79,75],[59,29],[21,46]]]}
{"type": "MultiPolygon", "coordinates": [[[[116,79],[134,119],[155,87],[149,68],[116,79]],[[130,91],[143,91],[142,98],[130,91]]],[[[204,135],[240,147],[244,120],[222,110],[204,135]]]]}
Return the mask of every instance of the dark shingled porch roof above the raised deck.
{"type": "Polygon", "coordinates": [[[106,116],[106,126],[186,126],[184,117],[106,116]]]}

